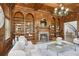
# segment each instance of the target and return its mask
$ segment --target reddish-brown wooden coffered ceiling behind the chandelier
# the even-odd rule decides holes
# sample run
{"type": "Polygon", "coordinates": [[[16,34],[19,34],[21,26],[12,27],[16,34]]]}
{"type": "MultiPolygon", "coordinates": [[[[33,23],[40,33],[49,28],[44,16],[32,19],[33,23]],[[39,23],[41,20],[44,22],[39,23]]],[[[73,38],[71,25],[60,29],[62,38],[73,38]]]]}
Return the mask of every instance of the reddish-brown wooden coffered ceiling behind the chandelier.
{"type": "MultiPolygon", "coordinates": [[[[55,7],[59,6],[59,3],[22,3],[22,4],[15,4],[21,7],[28,7],[33,8],[34,10],[45,10],[45,11],[53,11],[55,7]]],[[[63,4],[66,8],[70,8],[71,10],[78,12],[79,11],[79,4],[78,3],[65,3],[63,4]]]]}

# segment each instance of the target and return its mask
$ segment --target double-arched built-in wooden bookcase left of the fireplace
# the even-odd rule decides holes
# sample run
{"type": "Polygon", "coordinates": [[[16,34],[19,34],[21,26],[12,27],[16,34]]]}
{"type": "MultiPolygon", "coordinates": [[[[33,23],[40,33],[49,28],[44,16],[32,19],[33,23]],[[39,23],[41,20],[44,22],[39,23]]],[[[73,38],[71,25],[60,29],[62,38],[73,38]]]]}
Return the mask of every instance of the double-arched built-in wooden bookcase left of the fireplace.
{"type": "Polygon", "coordinates": [[[17,12],[13,20],[13,25],[15,29],[15,35],[24,35],[25,37],[27,37],[28,40],[33,39],[34,19],[32,14],[28,13],[24,17],[21,12],[17,12]]]}

